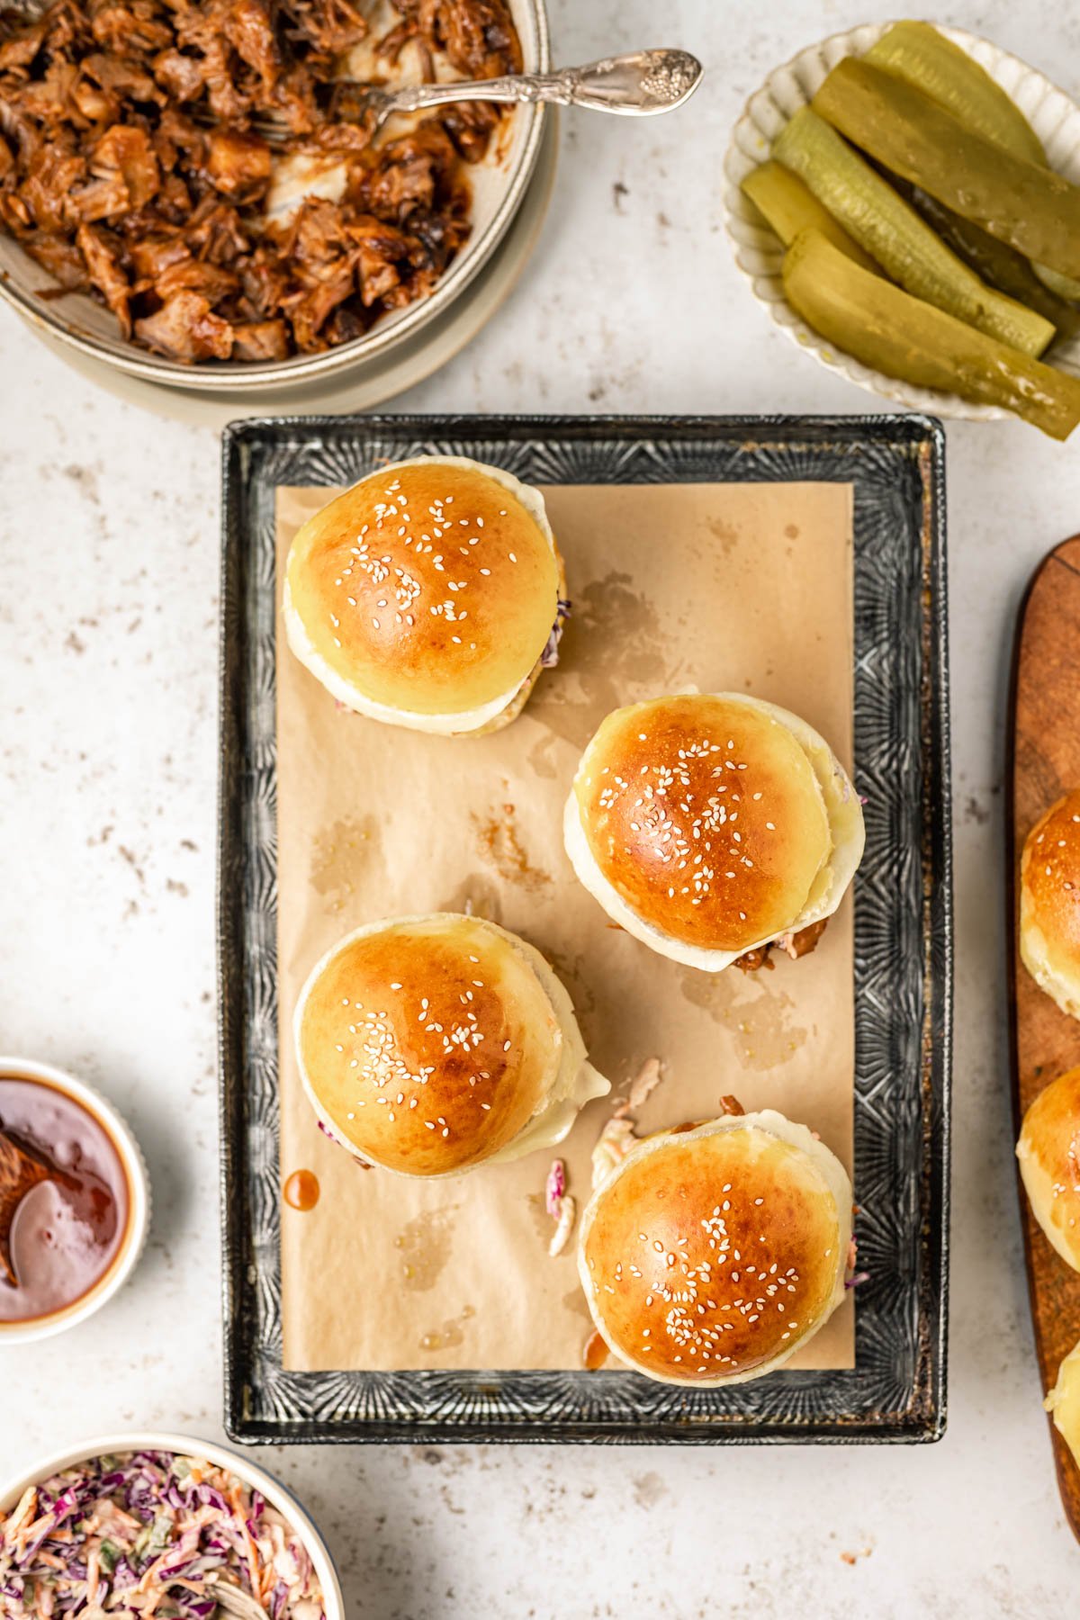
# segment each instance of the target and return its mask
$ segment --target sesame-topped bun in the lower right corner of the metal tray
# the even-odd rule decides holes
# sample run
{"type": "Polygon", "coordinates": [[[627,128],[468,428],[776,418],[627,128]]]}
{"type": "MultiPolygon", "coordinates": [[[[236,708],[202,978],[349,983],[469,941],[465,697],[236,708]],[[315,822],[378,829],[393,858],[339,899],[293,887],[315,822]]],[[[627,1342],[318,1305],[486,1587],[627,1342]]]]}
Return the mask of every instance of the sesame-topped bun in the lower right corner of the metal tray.
{"type": "Polygon", "coordinates": [[[852,1184],[774,1110],[631,1149],[581,1217],[578,1272],[620,1361],[661,1383],[743,1383],[844,1298],[852,1184]]]}

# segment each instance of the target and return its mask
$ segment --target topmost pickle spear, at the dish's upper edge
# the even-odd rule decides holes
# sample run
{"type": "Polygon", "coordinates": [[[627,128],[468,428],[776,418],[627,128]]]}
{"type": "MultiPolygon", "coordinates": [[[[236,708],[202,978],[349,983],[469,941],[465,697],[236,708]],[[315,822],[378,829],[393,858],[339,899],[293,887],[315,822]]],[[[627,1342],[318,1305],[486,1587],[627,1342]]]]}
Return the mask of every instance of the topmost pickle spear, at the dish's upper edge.
{"type": "Polygon", "coordinates": [[[895,23],[863,60],[933,96],[954,118],[988,141],[1027,157],[1030,164],[1046,164],[1043,143],[1017,104],[975,57],[929,23],[895,23]]]}

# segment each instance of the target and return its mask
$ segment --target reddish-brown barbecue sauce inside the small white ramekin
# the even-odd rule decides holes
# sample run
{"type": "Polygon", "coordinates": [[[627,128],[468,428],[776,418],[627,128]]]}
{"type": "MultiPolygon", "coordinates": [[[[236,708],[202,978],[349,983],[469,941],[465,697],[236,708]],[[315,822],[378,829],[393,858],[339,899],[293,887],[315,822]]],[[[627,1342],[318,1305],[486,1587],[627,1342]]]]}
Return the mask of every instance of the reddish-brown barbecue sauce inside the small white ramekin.
{"type": "Polygon", "coordinates": [[[0,1131],[44,1168],[10,1209],[11,1281],[0,1268],[5,1322],[34,1322],[78,1304],[125,1241],[131,1197],[105,1126],[58,1087],[0,1076],[0,1131]]]}

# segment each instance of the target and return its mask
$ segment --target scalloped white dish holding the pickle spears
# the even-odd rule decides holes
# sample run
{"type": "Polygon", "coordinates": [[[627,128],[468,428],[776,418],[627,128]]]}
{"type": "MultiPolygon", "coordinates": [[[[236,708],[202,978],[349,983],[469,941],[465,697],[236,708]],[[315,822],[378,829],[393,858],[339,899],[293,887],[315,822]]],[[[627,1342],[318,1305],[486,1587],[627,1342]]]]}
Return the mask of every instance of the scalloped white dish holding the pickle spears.
{"type": "MultiPolygon", "coordinates": [[[[908,410],[929,411],[934,416],[952,416],[963,421],[1009,420],[1012,411],[996,405],[973,405],[955,394],[939,389],[916,389],[908,382],[887,377],[871,366],[860,364],[850,355],[827,343],[801,321],[784,296],[780,266],[784,248],[779,238],[761,222],[761,215],[743,196],[740,181],[763,164],[784,125],[806,107],[819,91],[826,75],[844,57],[861,57],[892,28],[892,23],[868,23],[832,34],[819,45],[810,45],[792,57],[782,68],[769,75],[756,94],[750,97],[743,115],[735,125],[724,159],[727,190],[724,193],[724,224],[735,248],[735,262],[753,287],[755,298],[764,305],[780,330],[813,355],[829,371],[847,377],[860,389],[879,394],[882,399],[907,405],[908,410]]],[[[980,66],[1017,104],[1040,141],[1046,147],[1051,168],[1080,185],[1080,107],[1036,73],[1018,57],[1010,57],[976,34],[962,28],[944,28],[934,23],[946,39],[967,50],[980,66]]],[[[1044,358],[1051,358],[1062,371],[1080,376],[1080,339],[1056,342],[1044,358]]]]}

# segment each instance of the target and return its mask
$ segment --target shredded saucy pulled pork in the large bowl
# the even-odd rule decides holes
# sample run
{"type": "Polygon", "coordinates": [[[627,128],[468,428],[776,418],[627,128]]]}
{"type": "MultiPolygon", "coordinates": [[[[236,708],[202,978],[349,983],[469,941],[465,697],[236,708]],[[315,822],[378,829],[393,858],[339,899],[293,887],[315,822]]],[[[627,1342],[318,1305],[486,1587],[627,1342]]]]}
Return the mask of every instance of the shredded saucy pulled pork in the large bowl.
{"type": "MultiPolygon", "coordinates": [[[[521,68],[507,0],[392,0],[374,44],[461,78],[521,68]]],[[[0,228],[65,292],[172,360],[285,360],[426,296],[470,235],[466,165],[499,110],[457,104],[395,139],[348,122],[353,0],[57,0],[0,10],[0,228]],[[272,115],[285,152],[251,128],[272,115]],[[266,201],[287,154],[343,168],[340,201],[266,201]]],[[[353,91],[355,96],[355,91],[353,91]]]]}

